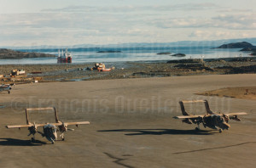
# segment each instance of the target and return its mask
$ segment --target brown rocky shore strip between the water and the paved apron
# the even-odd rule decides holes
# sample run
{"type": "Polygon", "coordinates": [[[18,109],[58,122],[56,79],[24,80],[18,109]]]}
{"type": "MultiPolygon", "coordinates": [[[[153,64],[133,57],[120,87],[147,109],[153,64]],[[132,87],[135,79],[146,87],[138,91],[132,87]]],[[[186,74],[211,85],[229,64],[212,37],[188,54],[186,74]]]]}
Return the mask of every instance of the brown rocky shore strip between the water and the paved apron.
{"type": "Polygon", "coordinates": [[[12,78],[10,76],[11,79],[7,79],[7,81],[18,83],[19,80],[22,81],[26,78],[42,78],[39,82],[90,81],[166,76],[254,74],[256,72],[256,57],[177,59],[169,61],[117,61],[106,62],[105,64],[106,68],[115,67],[115,69],[109,72],[90,70],[94,66],[94,63],[2,64],[0,65],[0,74],[9,76],[10,71],[13,69],[26,70],[26,76],[15,76],[12,78]],[[34,74],[33,72],[38,73],[34,74]]]}

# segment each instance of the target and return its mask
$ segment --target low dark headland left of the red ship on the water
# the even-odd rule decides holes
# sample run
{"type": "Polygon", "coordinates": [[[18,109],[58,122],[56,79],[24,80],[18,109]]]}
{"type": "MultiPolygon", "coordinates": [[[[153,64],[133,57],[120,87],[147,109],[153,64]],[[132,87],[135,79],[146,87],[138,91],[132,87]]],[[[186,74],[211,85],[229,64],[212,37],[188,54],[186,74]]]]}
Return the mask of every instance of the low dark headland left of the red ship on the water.
{"type": "Polygon", "coordinates": [[[24,59],[38,57],[55,57],[55,55],[48,53],[27,53],[6,48],[0,48],[0,59],[24,59]]]}

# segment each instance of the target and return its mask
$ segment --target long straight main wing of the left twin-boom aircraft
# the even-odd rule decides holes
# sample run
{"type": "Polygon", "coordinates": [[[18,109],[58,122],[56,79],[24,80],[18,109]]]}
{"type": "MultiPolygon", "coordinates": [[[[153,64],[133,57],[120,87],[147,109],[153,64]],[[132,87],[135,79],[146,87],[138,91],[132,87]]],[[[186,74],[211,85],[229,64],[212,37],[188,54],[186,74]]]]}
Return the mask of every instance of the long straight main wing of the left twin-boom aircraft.
{"type": "MultiPolygon", "coordinates": [[[[63,123],[59,122],[59,123],[47,123],[47,124],[51,124],[54,126],[61,126],[63,123]]],[[[45,126],[47,124],[27,124],[27,125],[15,125],[15,126],[6,126],[6,128],[28,128],[28,127],[32,127],[32,126],[45,126]]],[[[72,125],[81,125],[81,124],[90,124],[89,121],[79,121],[79,122],[64,122],[65,126],[72,126],[72,125]]]]}

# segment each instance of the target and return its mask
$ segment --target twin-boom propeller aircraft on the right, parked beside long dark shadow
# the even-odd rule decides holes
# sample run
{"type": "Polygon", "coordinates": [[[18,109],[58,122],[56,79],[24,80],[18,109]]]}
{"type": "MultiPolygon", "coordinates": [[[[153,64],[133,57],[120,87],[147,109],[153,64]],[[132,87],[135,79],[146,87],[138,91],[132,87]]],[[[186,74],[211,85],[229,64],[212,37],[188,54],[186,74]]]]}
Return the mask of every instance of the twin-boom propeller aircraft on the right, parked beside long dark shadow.
{"type": "Polygon", "coordinates": [[[207,100],[180,101],[179,104],[180,104],[183,115],[175,116],[173,118],[182,119],[183,122],[187,124],[192,124],[192,123],[197,124],[197,127],[195,128],[195,130],[199,130],[200,129],[199,125],[202,123],[202,125],[205,128],[209,127],[209,128],[218,130],[219,132],[222,132],[223,130],[228,130],[230,128],[230,125],[228,124],[229,120],[240,121],[237,115],[247,115],[247,113],[244,113],[244,112],[226,113],[226,114],[214,113],[210,109],[210,106],[207,100]],[[188,103],[204,103],[207,109],[207,113],[205,115],[189,115],[186,112],[184,107],[184,104],[188,104],[188,103]]]}

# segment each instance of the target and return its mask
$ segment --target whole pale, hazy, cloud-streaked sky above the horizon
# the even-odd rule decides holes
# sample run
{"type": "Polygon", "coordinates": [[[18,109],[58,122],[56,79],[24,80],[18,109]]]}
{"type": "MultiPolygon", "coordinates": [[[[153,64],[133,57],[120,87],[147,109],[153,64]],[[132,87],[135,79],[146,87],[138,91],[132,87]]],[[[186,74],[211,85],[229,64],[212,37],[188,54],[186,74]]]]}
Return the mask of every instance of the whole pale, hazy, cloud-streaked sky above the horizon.
{"type": "Polygon", "coordinates": [[[255,0],[0,0],[0,46],[256,37],[255,0]]]}

